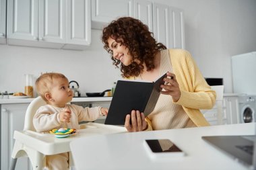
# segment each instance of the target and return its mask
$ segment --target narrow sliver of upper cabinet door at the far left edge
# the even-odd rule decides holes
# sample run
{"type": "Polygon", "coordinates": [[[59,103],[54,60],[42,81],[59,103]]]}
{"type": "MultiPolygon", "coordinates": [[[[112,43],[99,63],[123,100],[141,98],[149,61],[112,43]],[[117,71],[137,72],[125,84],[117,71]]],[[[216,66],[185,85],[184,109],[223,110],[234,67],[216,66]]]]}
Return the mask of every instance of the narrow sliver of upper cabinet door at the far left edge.
{"type": "Polygon", "coordinates": [[[0,44],[6,44],[6,0],[0,0],[0,44]]]}

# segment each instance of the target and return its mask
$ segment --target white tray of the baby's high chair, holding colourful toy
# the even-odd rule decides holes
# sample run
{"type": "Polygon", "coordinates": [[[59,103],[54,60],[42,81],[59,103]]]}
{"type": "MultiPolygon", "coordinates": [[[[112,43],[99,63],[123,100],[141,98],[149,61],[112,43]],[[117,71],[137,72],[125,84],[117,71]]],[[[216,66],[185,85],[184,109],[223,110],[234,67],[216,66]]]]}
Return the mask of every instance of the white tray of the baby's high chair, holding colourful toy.
{"type": "Polygon", "coordinates": [[[68,138],[56,138],[54,134],[38,133],[30,130],[17,131],[15,130],[13,138],[44,155],[55,155],[58,153],[65,153],[70,151],[69,142],[77,138],[85,138],[87,136],[115,134],[127,132],[124,127],[112,126],[98,123],[82,124],[83,129],[68,138]]]}

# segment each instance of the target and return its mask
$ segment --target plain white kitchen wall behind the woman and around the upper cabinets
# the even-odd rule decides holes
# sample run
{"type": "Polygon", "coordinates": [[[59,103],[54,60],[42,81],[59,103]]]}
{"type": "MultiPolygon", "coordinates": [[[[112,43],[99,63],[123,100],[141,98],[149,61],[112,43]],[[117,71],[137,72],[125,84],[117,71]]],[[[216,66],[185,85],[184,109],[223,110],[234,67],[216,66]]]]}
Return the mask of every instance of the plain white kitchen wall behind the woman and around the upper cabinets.
{"type": "MultiPolygon", "coordinates": [[[[157,0],[185,11],[186,49],[204,77],[223,77],[232,92],[231,56],[256,51],[255,0],[157,0]]],[[[120,77],[92,30],[85,51],[0,45],[0,91],[24,91],[24,74],[58,71],[79,83],[82,93],[100,92],[120,77]]],[[[255,63],[256,64],[256,63],[255,63]]]]}

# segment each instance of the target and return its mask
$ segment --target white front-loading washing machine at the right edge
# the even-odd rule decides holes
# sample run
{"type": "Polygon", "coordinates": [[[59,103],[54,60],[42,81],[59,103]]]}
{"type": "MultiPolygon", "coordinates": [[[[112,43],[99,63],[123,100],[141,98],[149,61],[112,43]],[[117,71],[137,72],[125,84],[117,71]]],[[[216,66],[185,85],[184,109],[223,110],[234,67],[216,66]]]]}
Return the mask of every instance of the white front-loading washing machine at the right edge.
{"type": "Polygon", "coordinates": [[[256,122],[256,95],[238,97],[241,123],[256,122]]]}

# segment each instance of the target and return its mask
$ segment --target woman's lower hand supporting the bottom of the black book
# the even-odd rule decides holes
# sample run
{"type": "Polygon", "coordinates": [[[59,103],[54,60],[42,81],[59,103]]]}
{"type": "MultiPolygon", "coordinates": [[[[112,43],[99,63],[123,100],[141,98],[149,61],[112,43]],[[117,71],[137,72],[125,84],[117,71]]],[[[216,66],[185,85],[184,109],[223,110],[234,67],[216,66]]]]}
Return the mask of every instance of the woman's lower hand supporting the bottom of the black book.
{"type": "Polygon", "coordinates": [[[128,132],[139,132],[147,128],[147,122],[143,113],[139,113],[137,110],[131,111],[131,115],[127,114],[125,118],[125,128],[128,132]],[[131,124],[130,124],[131,120],[131,124]]]}

